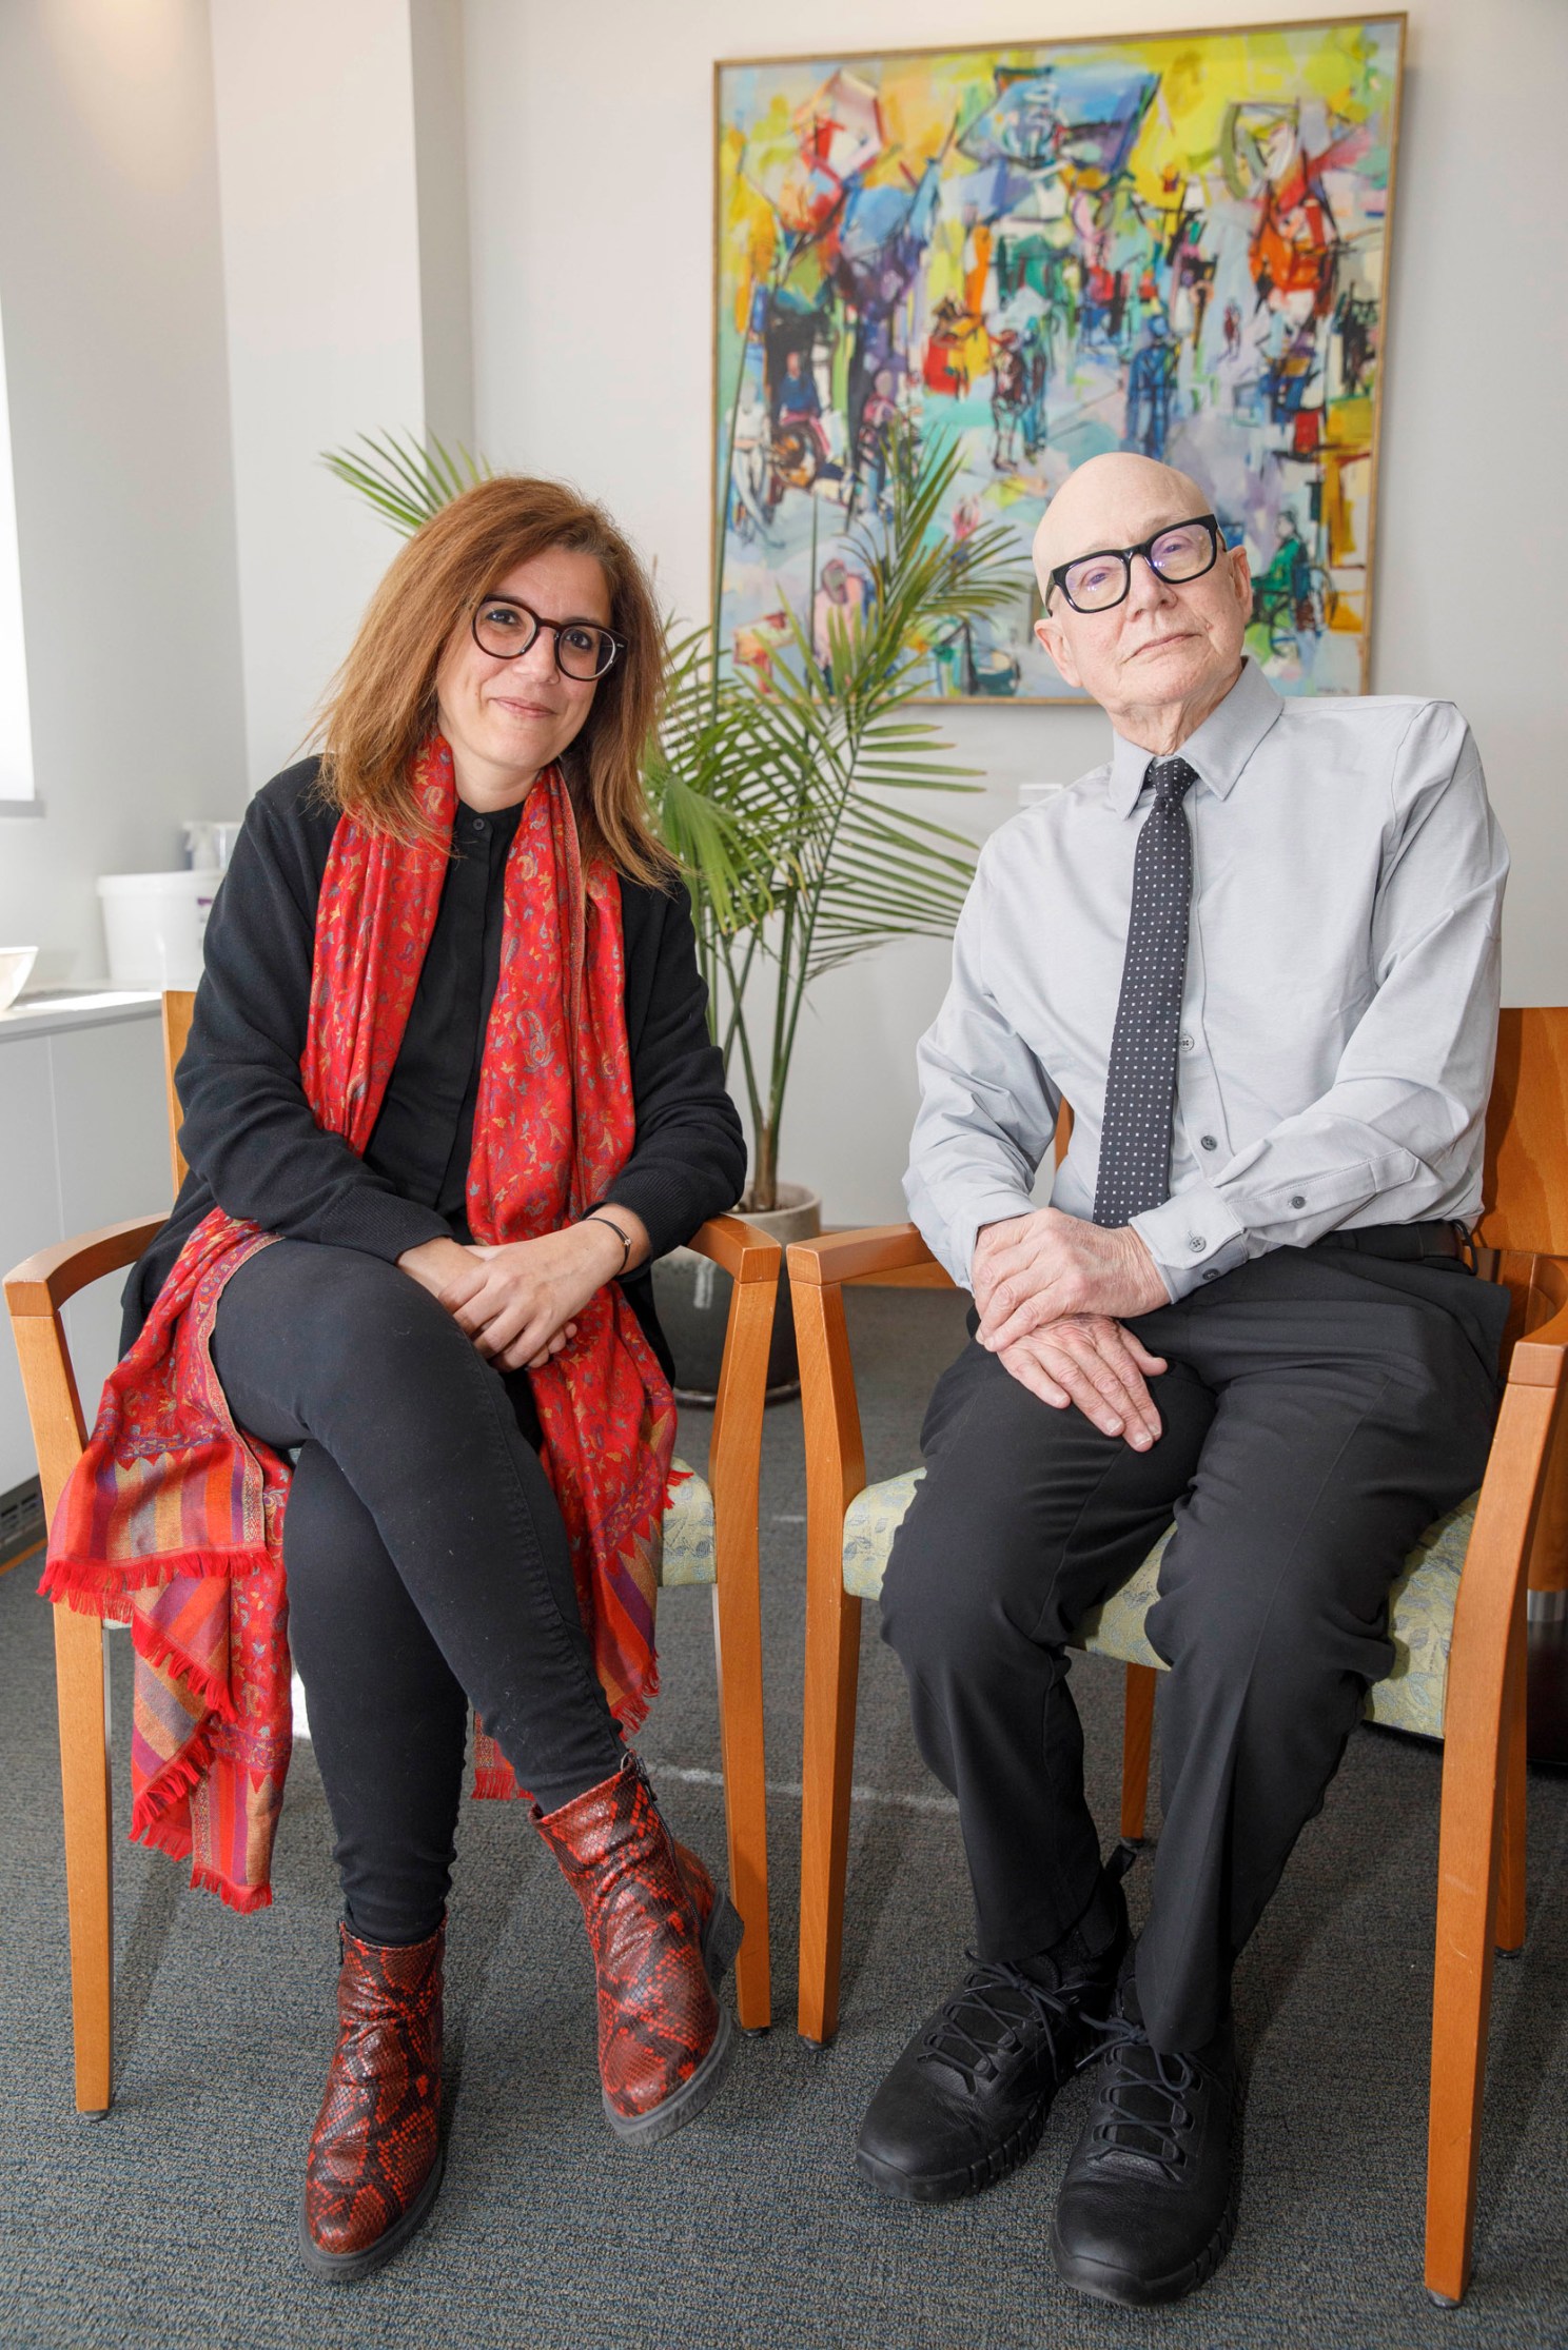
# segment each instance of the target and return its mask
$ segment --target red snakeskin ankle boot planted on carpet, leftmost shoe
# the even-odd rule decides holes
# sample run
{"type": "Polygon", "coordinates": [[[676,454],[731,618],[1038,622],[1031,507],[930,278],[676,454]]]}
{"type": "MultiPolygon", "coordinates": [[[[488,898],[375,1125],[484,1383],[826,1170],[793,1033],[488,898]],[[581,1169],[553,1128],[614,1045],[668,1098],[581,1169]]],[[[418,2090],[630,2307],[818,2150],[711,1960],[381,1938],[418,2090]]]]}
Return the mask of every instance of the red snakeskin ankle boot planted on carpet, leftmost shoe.
{"type": "Polygon", "coordinates": [[[299,2249],[348,2284],[402,2251],[442,2183],[447,1929],[381,1950],[339,1929],[339,2044],[306,2160],[299,2249]]]}

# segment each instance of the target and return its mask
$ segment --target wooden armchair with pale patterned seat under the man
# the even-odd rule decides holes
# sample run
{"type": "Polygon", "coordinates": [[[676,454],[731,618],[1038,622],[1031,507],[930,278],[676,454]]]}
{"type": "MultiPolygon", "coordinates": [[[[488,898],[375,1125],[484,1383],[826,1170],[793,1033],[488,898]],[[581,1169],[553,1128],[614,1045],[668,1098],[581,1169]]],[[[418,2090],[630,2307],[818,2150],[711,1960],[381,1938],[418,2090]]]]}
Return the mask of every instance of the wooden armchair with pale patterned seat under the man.
{"type": "MultiPolygon", "coordinates": [[[[1481,1271],[1514,1297],[1507,1389],[1486,1483],[1432,1528],[1392,1593],[1396,1664],[1375,1720],[1443,1737],[1427,2141],[1427,2289],[1469,2282],[1493,1948],[1523,1943],[1526,1579],[1568,1586],[1568,1010],[1505,1010],[1488,1107],[1481,1271]],[[1460,1574],[1460,1567],[1465,1570],[1460,1574]]],[[[849,1786],[860,1600],[914,1476],[865,1485],[844,1290],[884,1281],[950,1288],[912,1224],[790,1248],[806,1415],[806,1720],[799,2030],[830,2040],[839,2012],[849,1786]]],[[[1161,1659],[1143,1633],[1161,1544],[1079,1626],[1126,1664],[1121,1833],[1143,1838],[1161,1659]]]]}

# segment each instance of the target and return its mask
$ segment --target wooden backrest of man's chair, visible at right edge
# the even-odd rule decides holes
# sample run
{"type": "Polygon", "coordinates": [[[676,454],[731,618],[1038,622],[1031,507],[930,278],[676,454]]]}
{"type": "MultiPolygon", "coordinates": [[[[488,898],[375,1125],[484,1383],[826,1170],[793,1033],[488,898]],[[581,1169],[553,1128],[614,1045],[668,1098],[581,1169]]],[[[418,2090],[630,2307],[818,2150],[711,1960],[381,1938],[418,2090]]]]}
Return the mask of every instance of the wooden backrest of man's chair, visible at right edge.
{"type": "Polygon", "coordinates": [[[1486,1248],[1568,1255],[1568,1006],[1509,1003],[1486,1107],[1486,1248]]]}

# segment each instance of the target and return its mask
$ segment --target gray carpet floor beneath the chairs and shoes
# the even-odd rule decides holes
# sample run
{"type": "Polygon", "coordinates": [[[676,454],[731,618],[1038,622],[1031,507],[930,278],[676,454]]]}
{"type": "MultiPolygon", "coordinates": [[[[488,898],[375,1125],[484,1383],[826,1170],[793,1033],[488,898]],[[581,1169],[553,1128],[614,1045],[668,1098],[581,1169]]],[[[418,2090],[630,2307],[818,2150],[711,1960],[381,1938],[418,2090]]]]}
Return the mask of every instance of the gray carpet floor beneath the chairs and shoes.
{"type": "MultiPolygon", "coordinates": [[[[870,1473],[907,1466],[957,1300],[851,1297],[870,1473]]],[[[703,1443],[689,1415],[686,1450],[703,1443]]],[[[738,2047],[708,2117],[651,2155],[602,2120],[576,1906],[515,1807],[465,1812],[451,1913],[447,2188],[414,2249],[355,2289],[294,2256],[306,2134],[329,2049],[334,1887],[303,1748],[277,1904],[228,1915],[120,1842],[118,2096],[71,2110],[49,1622],[33,1565],[0,1579],[0,2341],[139,2350],[1460,2350],[1568,2345],[1568,1784],[1530,1784],[1530,1939],[1493,2009],[1476,2280],[1455,2315],[1420,2287],[1422,2127],[1439,1755],[1359,1732],[1239,1969],[1251,2054],[1237,2249],[1150,2317],[1067,2294],[1051,2195],[1086,2106],[1039,2155],[945,2209],[889,2207],[851,2169],[856,2120],[969,1932],[957,1824],[912,1751],[900,1676],[867,1610],[846,1901],[844,2026],[792,2028],[802,1676],[799,1410],[769,1412],[764,1607],[773,1800],[776,2028],[738,2047]]],[[[672,1593],[665,1694],[644,1737],[679,1831],[722,1852],[710,1610],[672,1593]]],[[[115,1798],[129,1676],[113,1638],[115,1798]]],[[[1119,1676],[1077,1666],[1091,1795],[1114,1824],[1119,1676]]],[[[1147,1871],[1131,1880],[1133,1911],[1147,1871]]]]}

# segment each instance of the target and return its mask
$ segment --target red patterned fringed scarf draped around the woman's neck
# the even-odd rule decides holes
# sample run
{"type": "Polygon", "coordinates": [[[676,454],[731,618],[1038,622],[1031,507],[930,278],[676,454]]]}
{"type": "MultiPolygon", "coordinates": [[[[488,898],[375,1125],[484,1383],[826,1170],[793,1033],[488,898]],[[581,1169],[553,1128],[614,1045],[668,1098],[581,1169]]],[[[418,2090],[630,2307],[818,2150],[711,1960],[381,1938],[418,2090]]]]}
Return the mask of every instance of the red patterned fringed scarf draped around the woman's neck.
{"type": "MultiPolygon", "coordinates": [[[[414,783],[444,844],[456,813],[447,743],[430,743],[414,783]]],[[[444,846],[404,846],[353,818],[331,837],[301,1079],[317,1123],[357,1152],[397,1062],[444,874],[444,846]]],[[[505,867],[468,1166],[475,1241],[557,1231],[602,1198],[632,1137],[621,893],[607,867],[581,870],[571,801],[548,768],[505,867]]],[[[56,1600],[129,1622],[132,1835],[190,1856],[193,1882],[235,1908],[273,1899],[289,1767],[289,1464],[235,1426],[209,1342],[223,1283],[273,1238],[221,1208],[190,1234],[141,1337],[108,1375],[42,1579],[56,1600]]],[[[675,1403],[616,1283],[576,1325],[567,1349],[531,1372],[543,1466],[599,1680],[635,1730],[658,1687],[654,1593],[675,1403]]],[[[517,1793],[482,1732],[475,1793],[517,1793]]]]}

